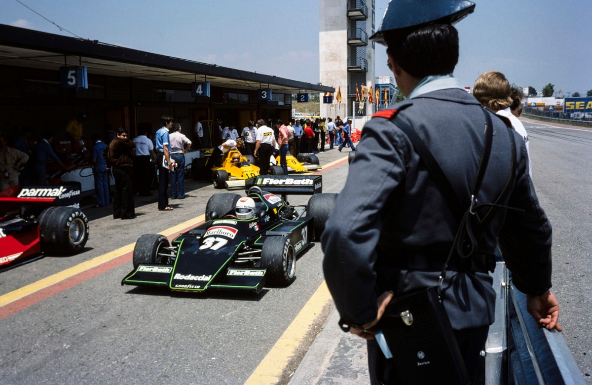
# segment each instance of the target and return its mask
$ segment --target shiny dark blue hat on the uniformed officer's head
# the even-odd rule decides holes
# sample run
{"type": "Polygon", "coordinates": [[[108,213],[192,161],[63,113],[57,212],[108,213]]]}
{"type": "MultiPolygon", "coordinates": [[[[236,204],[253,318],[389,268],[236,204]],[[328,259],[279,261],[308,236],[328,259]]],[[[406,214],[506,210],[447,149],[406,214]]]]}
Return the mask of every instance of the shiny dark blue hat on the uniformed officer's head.
{"type": "Polygon", "coordinates": [[[391,0],[378,31],[370,37],[384,44],[384,33],[427,24],[456,24],[475,10],[468,0],[391,0]]]}

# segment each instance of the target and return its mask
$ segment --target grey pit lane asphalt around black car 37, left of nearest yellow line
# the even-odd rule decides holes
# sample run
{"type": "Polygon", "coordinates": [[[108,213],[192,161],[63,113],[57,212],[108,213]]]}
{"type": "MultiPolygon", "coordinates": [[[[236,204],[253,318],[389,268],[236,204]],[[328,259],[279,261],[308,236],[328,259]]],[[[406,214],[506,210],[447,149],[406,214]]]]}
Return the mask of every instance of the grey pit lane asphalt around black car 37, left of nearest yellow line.
{"type": "MultiPolygon", "coordinates": [[[[347,175],[346,152],[318,158],[323,191],[338,192],[347,175]]],[[[190,180],[186,188],[188,198],[170,201],[173,211],[157,211],[156,195],[136,197],[134,220],[111,219],[111,207],[84,208],[91,219],[85,252],[46,256],[0,275],[1,383],[236,384],[251,376],[323,283],[320,246],[298,259],[292,285],[259,295],[121,286],[131,270],[131,243],[143,233],[200,222],[207,199],[218,192],[190,180]],[[97,258],[109,261],[91,267],[97,258]],[[73,269],[81,272],[72,275],[73,269]]],[[[288,199],[305,204],[308,197],[288,199]]],[[[330,306],[321,301],[315,312],[326,317],[330,306]]],[[[309,325],[300,326],[305,337],[309,325]]]]}

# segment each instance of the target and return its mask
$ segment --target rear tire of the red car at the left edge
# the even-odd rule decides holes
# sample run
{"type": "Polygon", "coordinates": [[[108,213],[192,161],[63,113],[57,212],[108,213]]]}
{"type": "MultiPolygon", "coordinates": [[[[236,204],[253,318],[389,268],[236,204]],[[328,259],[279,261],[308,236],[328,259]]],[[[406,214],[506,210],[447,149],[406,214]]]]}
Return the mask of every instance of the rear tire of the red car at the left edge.
{"type": "Polygon", "coordinates": [[[37,218],[41,249],[58,255],[78,254],[88,240],[88,218],[79,208],[49,207],[37,218]]]}

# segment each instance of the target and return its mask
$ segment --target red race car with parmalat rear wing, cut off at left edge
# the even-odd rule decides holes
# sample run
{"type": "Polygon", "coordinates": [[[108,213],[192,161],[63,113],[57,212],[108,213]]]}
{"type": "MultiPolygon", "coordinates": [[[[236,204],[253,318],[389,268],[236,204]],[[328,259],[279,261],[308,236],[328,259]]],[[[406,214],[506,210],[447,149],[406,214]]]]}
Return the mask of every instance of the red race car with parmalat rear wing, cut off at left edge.
{"type": "Polygon", "coordinates": [[[89,234],[78,182],[12,186],[0,192],[0,271],[82,251],[89,234]]]}

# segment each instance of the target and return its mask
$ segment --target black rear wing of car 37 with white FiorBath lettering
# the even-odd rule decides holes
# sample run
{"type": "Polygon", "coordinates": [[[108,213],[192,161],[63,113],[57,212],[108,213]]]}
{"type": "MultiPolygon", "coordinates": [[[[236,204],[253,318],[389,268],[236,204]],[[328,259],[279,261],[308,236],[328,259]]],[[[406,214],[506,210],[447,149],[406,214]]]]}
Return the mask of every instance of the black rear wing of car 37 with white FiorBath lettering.
{"type": "Polygon", "coordinates": [[[313,195],[323,192],[321,175],[259,175],[244,182],[244,191],[259,186],[276,195],[313,195]]]}

